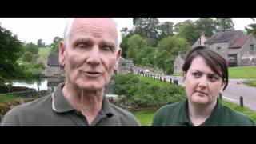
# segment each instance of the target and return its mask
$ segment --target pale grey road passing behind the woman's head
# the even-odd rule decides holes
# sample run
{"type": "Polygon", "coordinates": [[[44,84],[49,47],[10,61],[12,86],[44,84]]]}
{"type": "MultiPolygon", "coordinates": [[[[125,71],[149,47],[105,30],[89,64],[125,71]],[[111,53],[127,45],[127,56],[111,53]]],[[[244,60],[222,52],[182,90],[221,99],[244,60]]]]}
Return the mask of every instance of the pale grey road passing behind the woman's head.
{"type": "MultiPolygon", "coordinates": [[[[172,80],[174,78],[178,79],[178,84],[183,86],[182,77],[174,77],[174,76],[164,76],[166,81],[170,82],[170,78],[172,80]]],[[[246,86],[242,84],[246,79],[234,79],[231,78],[229,80],[229,84],[226,87],[226,90],[223,91],[222,98],[226,99],[228,102],[233,102],[236,104],[240,104],[240,96],[243,97],[243,105],[248,107],[250,110],[256,110],[256,87],[246,86]],[[240,84],[238,84],[240,82],[240,84]]]]}

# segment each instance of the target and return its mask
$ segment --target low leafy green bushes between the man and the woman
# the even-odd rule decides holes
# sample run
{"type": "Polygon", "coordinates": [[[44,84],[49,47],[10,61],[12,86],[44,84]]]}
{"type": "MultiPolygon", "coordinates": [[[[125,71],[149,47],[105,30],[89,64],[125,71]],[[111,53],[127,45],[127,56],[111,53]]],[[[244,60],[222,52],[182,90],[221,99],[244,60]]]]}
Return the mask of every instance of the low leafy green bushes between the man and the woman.
{"type": "Polygon", "coordinates": [[[139,107],[159,107],[186,98],[181,86],[170,83],[169,86],[156,86],[151,82],[143,82],[134,74],[117,75],[114,77],[114,83],[115,94],[125,95],[130,102],[139,107]]]}

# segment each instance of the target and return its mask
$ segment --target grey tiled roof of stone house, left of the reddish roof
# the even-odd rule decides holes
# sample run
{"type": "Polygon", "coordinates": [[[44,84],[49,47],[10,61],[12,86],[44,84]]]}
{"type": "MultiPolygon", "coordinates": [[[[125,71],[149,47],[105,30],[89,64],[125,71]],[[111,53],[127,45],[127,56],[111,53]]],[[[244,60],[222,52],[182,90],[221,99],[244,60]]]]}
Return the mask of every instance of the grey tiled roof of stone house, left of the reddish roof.
{"type": "Polygon", "coordinates": [[[210,38],[206,40],[206,44],[215,43],[215,42],[230,42],[231,38],[234,37],[235,34],[240,33],[241,31],[226,31],[222,33],[213,34],[210,38]]]}

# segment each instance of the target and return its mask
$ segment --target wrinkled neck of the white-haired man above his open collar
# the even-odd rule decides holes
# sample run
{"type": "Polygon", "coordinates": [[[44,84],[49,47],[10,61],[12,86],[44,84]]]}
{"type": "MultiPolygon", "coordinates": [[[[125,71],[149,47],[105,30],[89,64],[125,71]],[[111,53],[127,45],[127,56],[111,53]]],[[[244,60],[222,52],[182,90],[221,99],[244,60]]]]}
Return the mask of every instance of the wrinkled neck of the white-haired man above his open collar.
{"type": "Polygon", "coordinates": [[[98,91],[80,90],[65,84],[62,93],[74,109],[82,112],[89,125],[94,121],[98,112],[102,110],[104,89],[98,91]]]}

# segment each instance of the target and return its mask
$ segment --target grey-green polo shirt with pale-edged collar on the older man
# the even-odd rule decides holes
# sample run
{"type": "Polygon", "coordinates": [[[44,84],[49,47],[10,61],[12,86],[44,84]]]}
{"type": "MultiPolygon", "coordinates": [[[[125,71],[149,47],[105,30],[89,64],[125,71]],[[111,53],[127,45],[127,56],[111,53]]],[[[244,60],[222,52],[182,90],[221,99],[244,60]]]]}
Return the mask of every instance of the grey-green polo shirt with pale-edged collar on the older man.
{"type": "MultiPolygon", "coordinates": [[[[27,102],[10,110],[2,126],[89,126],[81,112],[74,110],[62,94],[64,83],[57,90],[34,102],[27,102]]],[[[140,126],[130,112],[111,104],[103,97],[102,110],[90,126],[140,126]]]]}

